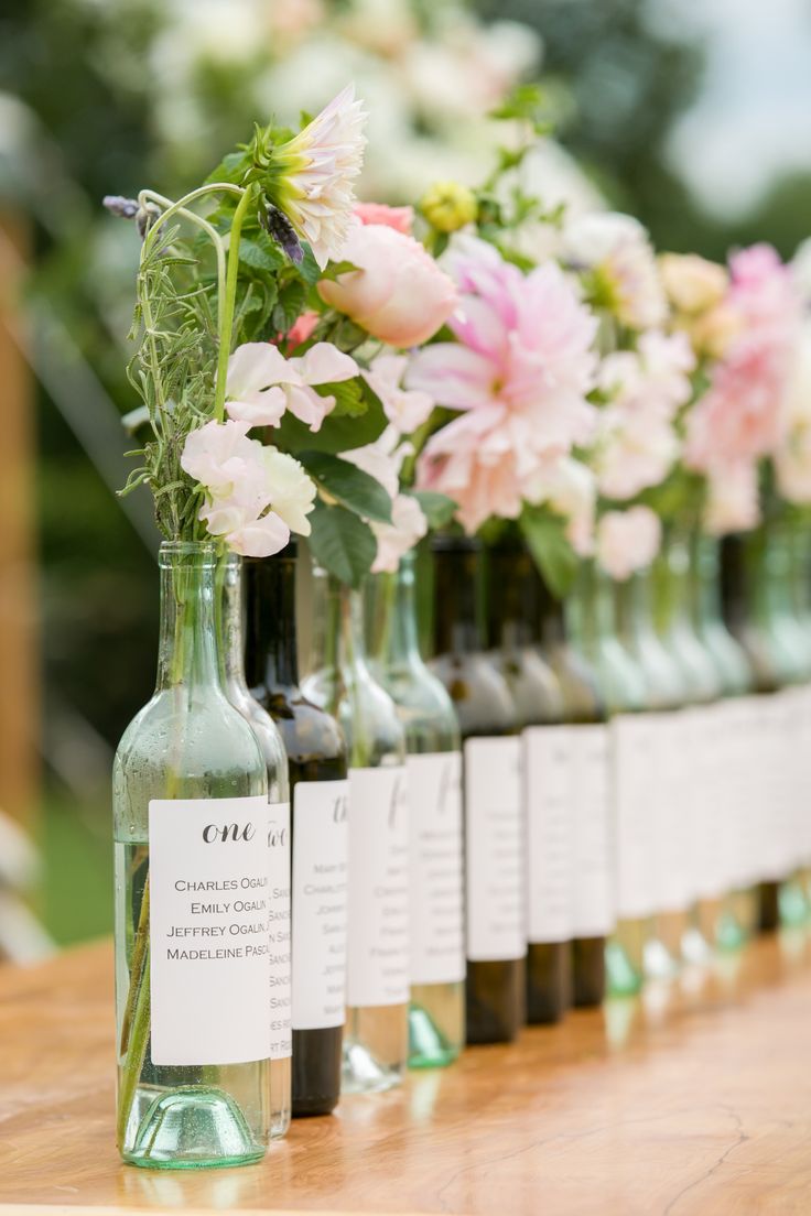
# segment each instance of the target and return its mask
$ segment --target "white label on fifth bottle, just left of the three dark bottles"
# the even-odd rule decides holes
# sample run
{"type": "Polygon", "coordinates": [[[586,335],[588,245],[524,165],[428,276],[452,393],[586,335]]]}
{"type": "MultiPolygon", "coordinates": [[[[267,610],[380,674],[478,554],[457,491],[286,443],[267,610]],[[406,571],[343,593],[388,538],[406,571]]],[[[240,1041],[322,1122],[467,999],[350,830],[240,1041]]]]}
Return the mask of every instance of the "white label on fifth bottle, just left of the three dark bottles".
{"type": "Polygon", "coordinates": [[[462,756],[411,755],[411,983],[464,979],[462,890],[462,756]]]}

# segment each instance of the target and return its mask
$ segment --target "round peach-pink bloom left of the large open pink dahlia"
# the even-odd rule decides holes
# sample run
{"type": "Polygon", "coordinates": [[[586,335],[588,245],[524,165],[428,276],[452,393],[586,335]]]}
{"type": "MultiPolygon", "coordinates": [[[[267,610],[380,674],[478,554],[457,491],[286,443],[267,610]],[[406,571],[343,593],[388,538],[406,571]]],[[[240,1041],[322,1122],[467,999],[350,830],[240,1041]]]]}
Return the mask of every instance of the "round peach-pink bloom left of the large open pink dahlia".
{"type": "Polygon", "coordinates": [[[340,258],[357,270],[319,283],[321,298],[392,347],[418,347],[456,308],[456,289],[413,237],[355,224],[340,258]]]}

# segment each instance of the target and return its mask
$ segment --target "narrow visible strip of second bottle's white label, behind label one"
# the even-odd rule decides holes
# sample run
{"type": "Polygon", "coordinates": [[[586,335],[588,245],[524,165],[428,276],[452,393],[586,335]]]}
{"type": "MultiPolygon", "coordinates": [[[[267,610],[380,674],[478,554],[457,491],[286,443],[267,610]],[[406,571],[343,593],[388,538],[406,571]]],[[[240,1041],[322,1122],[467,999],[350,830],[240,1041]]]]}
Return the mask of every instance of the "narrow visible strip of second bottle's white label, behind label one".
{"type": "Polygon", "coordinates": [[[270,1058],[287,1059],[293,1052],[291,1028],[291,804],[267,806],[270,854],[270,1058]]]}

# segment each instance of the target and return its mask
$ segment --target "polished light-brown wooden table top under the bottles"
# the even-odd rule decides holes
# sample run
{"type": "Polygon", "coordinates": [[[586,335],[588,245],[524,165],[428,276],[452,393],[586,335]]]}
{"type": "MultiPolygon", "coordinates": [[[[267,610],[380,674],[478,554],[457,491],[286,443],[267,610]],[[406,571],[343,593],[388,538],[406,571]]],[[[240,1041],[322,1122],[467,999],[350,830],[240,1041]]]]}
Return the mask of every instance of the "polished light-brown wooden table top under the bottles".
{"type": "Polygon", "coordinates": [[[153,1173],[113,1144],[112,951],[0,968],[0,1212],[811,1212],[811,948],[481,1047],[294,1122],[261,1165],[153,1173]]]}

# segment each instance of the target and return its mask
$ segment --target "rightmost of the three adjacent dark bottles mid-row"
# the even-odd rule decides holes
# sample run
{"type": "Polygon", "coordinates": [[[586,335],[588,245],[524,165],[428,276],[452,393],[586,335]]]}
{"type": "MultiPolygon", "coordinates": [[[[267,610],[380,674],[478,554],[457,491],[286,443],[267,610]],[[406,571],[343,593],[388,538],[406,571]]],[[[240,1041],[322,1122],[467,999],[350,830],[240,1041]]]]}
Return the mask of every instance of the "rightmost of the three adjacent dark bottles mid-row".
{"type": "MultiPolygon", "coordinates": [[[[573,621],[576,624],[579,610],[576,601],[567,606],[558,599],[541,579],[536,580],[537,593],[537,646],[541,657],[548,663],[558,682],[563,699],[563,722],[571,728],[569,739],[570,795],[573,818],[584,816],[593,826],[608,817],[609,799],[609,748],[606,704],[603,702],[596,671],[588,665],[582,652],[571,644],[569,634],[573,621]],[[568,621],[568,624],[567,624],[568,621]]],[[[606,935],[613,927],[613,893],[606,893],[601,901],[598,885],[603,862],[599,857],[599,841],[596,854],[593,839],[590,838],[588,851],[592,855],[592,867],[582,890],[587,894],[584,908],[578,903],[578,883],[584,874],[578,868],[584,862],[578,857],[575,843],[575,910],[574,936],[571,941],[571,997],[578,1008],[602,1004],[606,996],[606,935]],[[584,917],[582,924],[579,918],[584,917]],[[586,929],[582,925],[587,927],[586,929]],[[598,928],[599,933],[595,929],[598,928]]]]}

